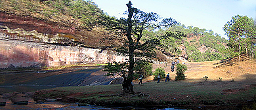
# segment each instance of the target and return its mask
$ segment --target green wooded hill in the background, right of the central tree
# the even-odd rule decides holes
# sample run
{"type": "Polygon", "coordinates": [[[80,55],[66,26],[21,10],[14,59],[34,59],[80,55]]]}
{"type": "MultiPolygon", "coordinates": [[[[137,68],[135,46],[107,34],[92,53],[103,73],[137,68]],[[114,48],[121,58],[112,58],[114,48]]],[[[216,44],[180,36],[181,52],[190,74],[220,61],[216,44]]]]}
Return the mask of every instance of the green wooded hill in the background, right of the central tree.
{"type": "Polygon", "coordinates": [[[226,45],[228,40],[212,30],[179,24],[156,32],[148,30],[145,35],[164,37],[161,41],[163,48],[160,50],[166,56],[174,57],[171,59],[175,61],[185,59],[190,62],[203,62],[230,58],[226,45]]]}

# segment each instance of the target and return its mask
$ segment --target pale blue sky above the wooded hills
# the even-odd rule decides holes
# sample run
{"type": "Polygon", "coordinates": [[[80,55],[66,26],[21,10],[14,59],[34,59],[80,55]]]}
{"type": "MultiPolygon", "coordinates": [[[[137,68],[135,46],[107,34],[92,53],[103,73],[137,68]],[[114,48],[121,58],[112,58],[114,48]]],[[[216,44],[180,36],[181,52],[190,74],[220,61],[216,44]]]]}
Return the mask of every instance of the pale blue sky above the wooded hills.
{"type": "MultiPolygon", "coordinates": [[[[92,0],[110,16],[117,18],[127,15],[129,0],[92,0]]],[[[232,16],[256,16],[256,0],[131,0],[133,7],[144,12],[156,12],[162,18],[174,18],[185,26],[212,29],[226,38],[223,26],[232,16]]]]}

